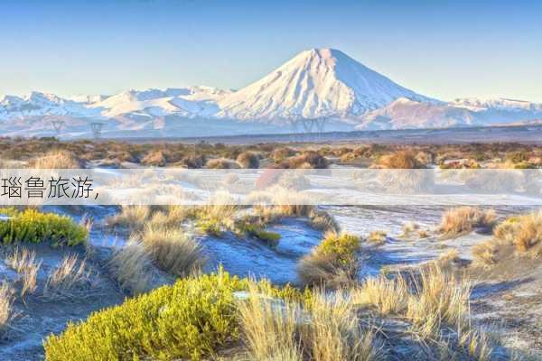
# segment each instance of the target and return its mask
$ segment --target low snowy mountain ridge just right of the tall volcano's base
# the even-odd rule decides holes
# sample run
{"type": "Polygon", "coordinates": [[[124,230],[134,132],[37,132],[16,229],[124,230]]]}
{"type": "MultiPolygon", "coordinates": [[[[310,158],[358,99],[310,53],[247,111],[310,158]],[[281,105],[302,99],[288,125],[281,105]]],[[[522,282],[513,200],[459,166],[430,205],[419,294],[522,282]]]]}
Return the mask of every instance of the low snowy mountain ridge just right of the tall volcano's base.
{"type": "Polygon", "coordinates": [[[400,97],[388,106],[361,116],[356,129],[444,128],[475,125],[475,122],[476,115],[469,109],[400,97]]]}

